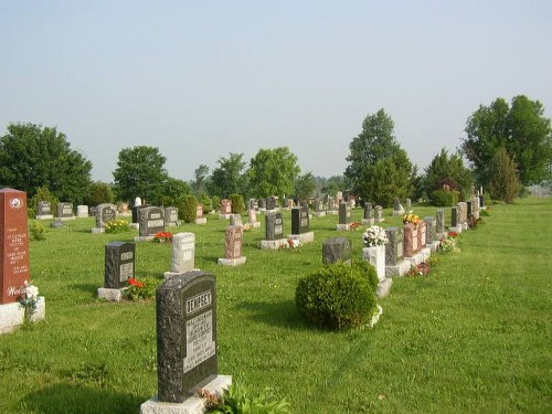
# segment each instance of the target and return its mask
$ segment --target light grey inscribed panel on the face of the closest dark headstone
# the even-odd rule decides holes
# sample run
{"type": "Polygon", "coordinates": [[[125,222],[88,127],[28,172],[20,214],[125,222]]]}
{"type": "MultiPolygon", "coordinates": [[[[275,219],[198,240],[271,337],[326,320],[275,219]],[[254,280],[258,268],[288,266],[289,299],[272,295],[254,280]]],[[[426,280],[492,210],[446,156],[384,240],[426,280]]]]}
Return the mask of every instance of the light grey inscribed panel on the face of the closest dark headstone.
{"type": "Polygon", "coordinates": [[[183,365],[184,372],[188,372],[215,354],[213,311],[209,310],[187,321],[185,333],[187,343],[183,365]]]}

